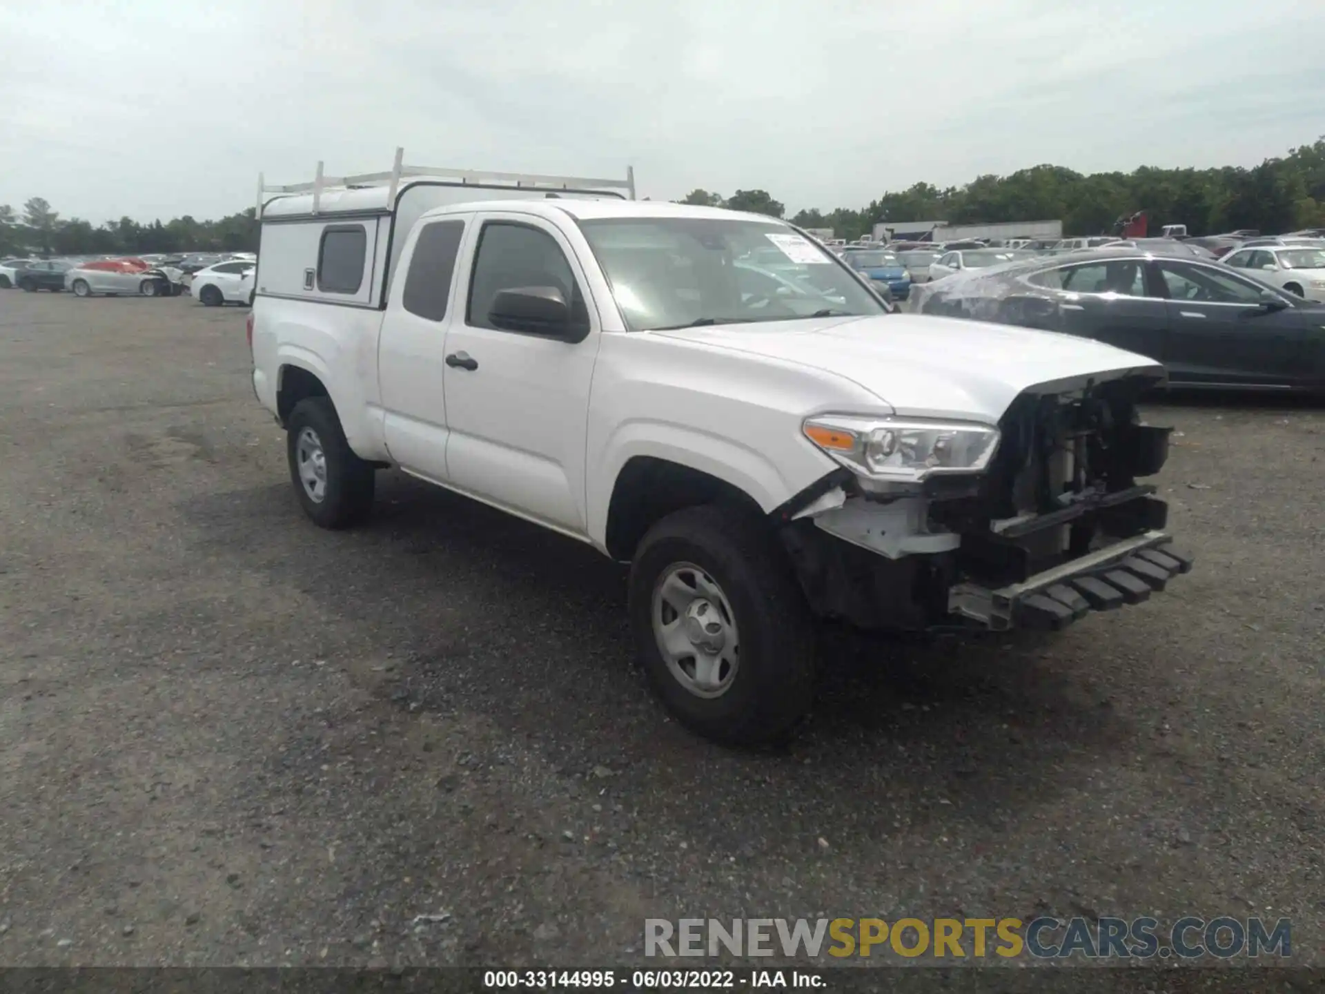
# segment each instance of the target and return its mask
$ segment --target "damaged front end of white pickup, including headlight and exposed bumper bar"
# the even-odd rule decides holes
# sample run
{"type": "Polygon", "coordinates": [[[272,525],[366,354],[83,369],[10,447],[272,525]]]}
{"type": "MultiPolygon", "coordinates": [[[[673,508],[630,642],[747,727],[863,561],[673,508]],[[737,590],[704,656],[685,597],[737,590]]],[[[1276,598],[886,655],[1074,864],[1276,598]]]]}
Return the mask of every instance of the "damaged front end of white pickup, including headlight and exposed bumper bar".
{"type": "Polygon", "coordinates": [[[1138,482],[1171,429],[1158,374],[1024,390],[994,425],[815,417],[841,468],[774,514],[811,607],[861,628],[1061,628],[1191,569],[1138,482]]]}

